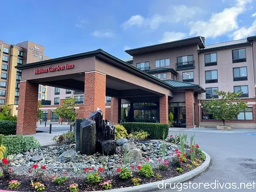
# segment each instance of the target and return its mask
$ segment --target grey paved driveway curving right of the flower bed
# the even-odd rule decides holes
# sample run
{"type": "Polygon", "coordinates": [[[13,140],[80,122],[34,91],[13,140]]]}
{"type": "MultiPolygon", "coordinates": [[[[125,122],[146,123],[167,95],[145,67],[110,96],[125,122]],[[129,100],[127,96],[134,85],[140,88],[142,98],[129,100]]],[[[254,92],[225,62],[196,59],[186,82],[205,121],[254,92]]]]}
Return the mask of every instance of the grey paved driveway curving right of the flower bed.
{"type": "MultiPolygon", "coordinates": [[[[170,129],[169,134],[185,132],[196,135],[196,143],[211,157],[211,165],[206,172],[191,179],[191,183],[212,183],[218,180],[225,183],[256,182],[256,130],[235,129],[234,131],[217,131],[214,129],[170,129]]],[[[187,181],[189,182],[189,181],[187,181]]],[[[194,184],[196,187],[197,185],[194,184]]],[[[214,187],[214,185],[212,185],[214,187]]],[[[228,187],[229,184],[226,184],[228,187]]],[[[244,185],[242,184],[242,187],[244,185]]],[[[250,187],[248,184],[247,186],[250,187]]],[[[252,184],[253,186],[253,184],[252,184]]],[[[256,191],[254,189],[161,189],[160,191],[256,191]]],[[[231,185],[232,187],[232,185],[231,185]]]]}

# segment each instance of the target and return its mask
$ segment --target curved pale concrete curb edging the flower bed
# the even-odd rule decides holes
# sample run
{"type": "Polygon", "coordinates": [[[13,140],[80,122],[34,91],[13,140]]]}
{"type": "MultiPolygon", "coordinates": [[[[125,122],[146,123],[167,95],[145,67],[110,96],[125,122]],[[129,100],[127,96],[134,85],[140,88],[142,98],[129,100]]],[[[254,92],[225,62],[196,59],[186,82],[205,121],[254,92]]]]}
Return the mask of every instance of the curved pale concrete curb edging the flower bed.
{"type": "MultiPolygon", "coordinates": [[[[147,184],[143,184],[143,185],[138,185],[138,186],[133,186],[133,187],[124,187],[124,188],[116,188],[116,189],[111,189],[111,190],[107,190],[109,192],[147,192],[147,191],[153,191],[153,190],[159,190],[160,188],[158,187],[159,183],[181,183],[184,181],[187,181],[199,174],[201,174],[202,172],[204,172],[206,170],[206,168],[208,168],[208,166],[210,165],[210,156],[203,152],[205,155],[205,161],[203,162],[202,165],[200,165],[199,167],[191,170],[190,172],[187,172],[183,175],[177,176],[177,177],[173,177],[170,179],[166,179],[166,180],[162,180],[162,181],[156,181],[153,183],[147,183],[147,184]]],[[[160,185],[161,186],[161,185],[160,185]]],[[[167,185],[167,187],[169,187],[169,185],[167,185]]],[[[167,188],[166,187],[166,188],[167,188]]],[[[102,192],[103,190],[98,190],[98,191],[94,191],[94,192],[102,192]]],[[[106,191],[106,190],[104,190],[106,191]]]]}

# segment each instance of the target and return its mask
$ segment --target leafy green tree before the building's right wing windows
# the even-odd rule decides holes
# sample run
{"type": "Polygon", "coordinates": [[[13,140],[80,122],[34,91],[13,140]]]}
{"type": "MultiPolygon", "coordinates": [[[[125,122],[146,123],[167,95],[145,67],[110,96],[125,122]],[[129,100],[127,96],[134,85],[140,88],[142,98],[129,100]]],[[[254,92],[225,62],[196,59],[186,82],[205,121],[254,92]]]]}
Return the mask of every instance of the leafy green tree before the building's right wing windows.
{"type": "Polygon", "coordinates": [[[215,119],[221,119],[224,126],[226,120],[231,120],[237,117],[239,112],[246,110],[246,102],[240,99],[241,91],[233,93],[215,90],[215,93],[220,99],[212,97],[212,100],[204,101],[203,106],[208,114],[215,119]]]}

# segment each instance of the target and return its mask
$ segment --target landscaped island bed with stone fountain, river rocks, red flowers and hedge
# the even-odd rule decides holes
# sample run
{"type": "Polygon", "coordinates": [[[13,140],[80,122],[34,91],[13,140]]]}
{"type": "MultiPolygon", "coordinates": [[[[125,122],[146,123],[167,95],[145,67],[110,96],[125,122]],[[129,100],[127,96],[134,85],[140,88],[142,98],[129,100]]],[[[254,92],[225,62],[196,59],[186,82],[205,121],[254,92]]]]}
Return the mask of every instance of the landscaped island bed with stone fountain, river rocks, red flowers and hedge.
{"type": "Polygon", "coordinates": [[[195,136],[167,134],[167,124],[113,126],[96,111],[76,119],[74,132],[55,137],[55,145],[0,135],[0,189],[106,190],[176,177],[203,163],[195,136]]]}

